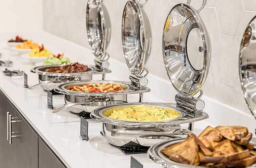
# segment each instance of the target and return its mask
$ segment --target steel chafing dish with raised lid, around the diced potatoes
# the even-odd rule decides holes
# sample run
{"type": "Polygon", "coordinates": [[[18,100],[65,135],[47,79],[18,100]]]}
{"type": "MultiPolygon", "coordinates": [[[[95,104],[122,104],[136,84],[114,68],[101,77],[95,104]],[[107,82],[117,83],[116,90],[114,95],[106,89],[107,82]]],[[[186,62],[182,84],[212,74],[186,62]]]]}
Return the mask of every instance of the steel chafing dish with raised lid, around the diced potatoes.
{"type": "MultiPolygon", "coordinates": [[[[90,4],[91,1],[89,0],[88,3],[90,4]]],[[[80,82],[62,84],[55,91],[64,94],[65,106],[54,110],[53,113],[59,112],[64,108],[68,108],[71,112],[75,113],[82,111],[91,112],[95,108],[98,108],[99,105],[127,102],[128,94],[139,94],[138,101],[142,102],[143,93],[150,92],[150,89],[146,87],[148,84],[146,78],[148,70],[145,68],[145,65],[150,56],[151,42],[150,23],[146,13],[142,9],[142,5],[136,0],[128,1],[122,17],[122,45],[124,58],[131,72],[130,81],[83,81],[83,83],[118,83],[126,86],[127,89],[118,92],[92,94],[72,92],[65,89],[68,85],[82,84],[80,82]],[[135,22],[131,22],[131,19],[134,19],[135,22]],[[80,105],[82,105],[82,108],[80,105]]]]}

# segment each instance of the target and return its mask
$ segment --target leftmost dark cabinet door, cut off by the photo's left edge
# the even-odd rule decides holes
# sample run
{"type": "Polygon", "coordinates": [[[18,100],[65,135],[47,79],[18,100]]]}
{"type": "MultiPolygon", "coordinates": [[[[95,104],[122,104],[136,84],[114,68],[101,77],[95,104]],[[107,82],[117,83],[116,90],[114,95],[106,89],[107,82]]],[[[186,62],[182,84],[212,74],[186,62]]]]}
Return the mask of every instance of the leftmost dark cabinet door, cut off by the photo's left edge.
{"type": "Polygon", "coordinates": [[[12,111],[12,105],[0,91],[0,167],[14,168],[13,162],[14,146],[7,141],[7,115],[6,112],[12,111]]]}

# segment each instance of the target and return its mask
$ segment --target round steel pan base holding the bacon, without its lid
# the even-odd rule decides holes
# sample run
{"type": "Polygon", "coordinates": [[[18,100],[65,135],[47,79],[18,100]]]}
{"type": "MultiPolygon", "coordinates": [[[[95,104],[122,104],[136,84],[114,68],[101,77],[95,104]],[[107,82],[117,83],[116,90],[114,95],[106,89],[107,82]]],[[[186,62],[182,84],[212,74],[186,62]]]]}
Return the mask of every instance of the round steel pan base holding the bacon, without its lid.
{"type": "Polygon", "coordinates": [[[93,74],[106,74],[110,73],[110,70],[98,70],[95,66],[87,65],[88,71],[80,73],[53,73],[45,72],[47,68],[59,68],[64,65],[46,65],[37,66],[32,68],[30,71],[38,74],[39,84],[36,84],[30,89],[36,86],[41,86],[44,90],[53,90],[58,84],[62,82],[71,82],[76,80],[92,80],[93,74]]]}

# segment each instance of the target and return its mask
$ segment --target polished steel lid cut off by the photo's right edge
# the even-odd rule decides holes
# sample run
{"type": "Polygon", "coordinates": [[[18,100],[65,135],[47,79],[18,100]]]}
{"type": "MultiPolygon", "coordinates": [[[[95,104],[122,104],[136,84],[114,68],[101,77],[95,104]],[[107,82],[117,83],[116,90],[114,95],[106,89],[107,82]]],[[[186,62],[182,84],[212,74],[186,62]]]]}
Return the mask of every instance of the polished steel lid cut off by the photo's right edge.
{"type": "Polygon", "coordinates": [[[248,23],[240,44],[239,77],[246,104],[256,119],[256,16],[248,23]]]}

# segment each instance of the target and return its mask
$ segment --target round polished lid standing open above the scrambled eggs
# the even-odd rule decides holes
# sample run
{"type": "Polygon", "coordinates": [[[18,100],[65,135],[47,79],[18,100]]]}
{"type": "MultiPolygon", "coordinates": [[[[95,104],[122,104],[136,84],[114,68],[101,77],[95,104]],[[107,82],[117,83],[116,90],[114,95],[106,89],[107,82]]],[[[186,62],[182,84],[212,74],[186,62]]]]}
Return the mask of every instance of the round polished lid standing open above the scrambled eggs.
{"type": "Polygon", "coordinates": [[[164,25],[162,52],[174,88],[184,96],[195,95],[208,75],[211,43],[199,11],[188,4],[174,6],[164,25]]]}

